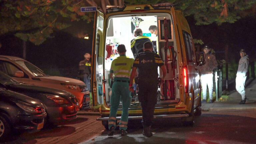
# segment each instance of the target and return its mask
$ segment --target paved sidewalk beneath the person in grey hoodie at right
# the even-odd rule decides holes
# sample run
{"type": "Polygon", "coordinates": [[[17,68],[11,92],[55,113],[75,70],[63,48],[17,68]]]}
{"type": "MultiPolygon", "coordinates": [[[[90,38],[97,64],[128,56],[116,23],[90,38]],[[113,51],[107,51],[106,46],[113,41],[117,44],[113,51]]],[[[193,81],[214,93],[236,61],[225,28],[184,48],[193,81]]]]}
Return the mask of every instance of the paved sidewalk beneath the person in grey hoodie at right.
{"type": "Polygon", "coordinates": [[[202,111],[255,111],[256,112],[256,79],[252,80],[245,88],[245,96],[248,101],[239,104],[241,95],[236,91],[229,91],[227,101],[214,101],[202,103],[202,111]]]}

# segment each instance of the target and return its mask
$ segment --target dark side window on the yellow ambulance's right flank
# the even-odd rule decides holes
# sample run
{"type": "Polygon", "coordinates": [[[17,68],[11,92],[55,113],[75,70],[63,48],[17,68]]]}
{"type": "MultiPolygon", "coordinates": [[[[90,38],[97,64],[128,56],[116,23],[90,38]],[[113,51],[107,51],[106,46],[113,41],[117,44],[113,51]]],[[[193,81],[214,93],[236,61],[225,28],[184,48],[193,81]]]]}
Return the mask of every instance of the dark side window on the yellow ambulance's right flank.
{"type": "Polygon", "coordinates": [[[187,55],[187,62],[188,63],[195,63],[195,53],[193,49],[193,42],[191,35],[185,31],[182,31],[183,37],[184,37],[184,42],[185,42],[185,49],[186,49],[186,55],[187,55]]]}

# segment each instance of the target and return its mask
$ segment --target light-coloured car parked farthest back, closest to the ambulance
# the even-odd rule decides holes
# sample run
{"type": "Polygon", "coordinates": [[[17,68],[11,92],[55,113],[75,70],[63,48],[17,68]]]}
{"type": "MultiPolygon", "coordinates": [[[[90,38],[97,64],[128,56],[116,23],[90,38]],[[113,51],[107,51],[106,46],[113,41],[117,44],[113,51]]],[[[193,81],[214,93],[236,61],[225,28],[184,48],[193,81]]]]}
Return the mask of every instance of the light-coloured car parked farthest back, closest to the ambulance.
{"type": "Polygon", "coordinates": [[[0,56],[0,71],[18,82],[68,91],[76,96],[80,108],[89,108],[90,92],[80,80],[47,75],[30,62],[13,56],[0,56]]]}

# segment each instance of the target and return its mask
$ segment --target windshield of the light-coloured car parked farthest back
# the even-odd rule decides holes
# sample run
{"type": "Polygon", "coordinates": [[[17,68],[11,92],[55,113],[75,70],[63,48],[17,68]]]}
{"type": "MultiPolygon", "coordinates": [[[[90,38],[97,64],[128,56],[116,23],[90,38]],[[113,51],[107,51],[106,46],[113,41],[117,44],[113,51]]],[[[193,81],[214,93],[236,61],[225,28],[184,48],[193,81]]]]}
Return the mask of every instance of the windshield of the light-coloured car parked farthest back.
{"type": "Polygon", "coordinates": [[[18,60],[15,61],[18,65],[22,66],[24,69],[26,69],[28,72],[30,72],[31,74],[35,75],[35,76],[48,76],[47,74],[44,73],[44,71],[42,71],[41,69],[39,69],[38,67],[34,66],[32,63],[27,62],[27,61],[22,61],[22,60],[18,60]]]}

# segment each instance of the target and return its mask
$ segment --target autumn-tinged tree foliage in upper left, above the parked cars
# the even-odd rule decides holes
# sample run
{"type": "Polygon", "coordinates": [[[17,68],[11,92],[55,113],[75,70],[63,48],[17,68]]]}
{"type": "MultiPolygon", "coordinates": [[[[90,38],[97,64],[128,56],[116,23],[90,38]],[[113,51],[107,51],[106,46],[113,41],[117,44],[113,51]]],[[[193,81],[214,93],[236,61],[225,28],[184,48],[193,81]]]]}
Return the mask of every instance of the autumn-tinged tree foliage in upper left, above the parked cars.
{"type": "Polygon", "coordinates": [[[41,44],[54,30],[65,29],[72,21],[93,19],[81,13],[88,6],[78,0],[0,0],[0,34],[15,33],[22,40],[41,44]]]}

